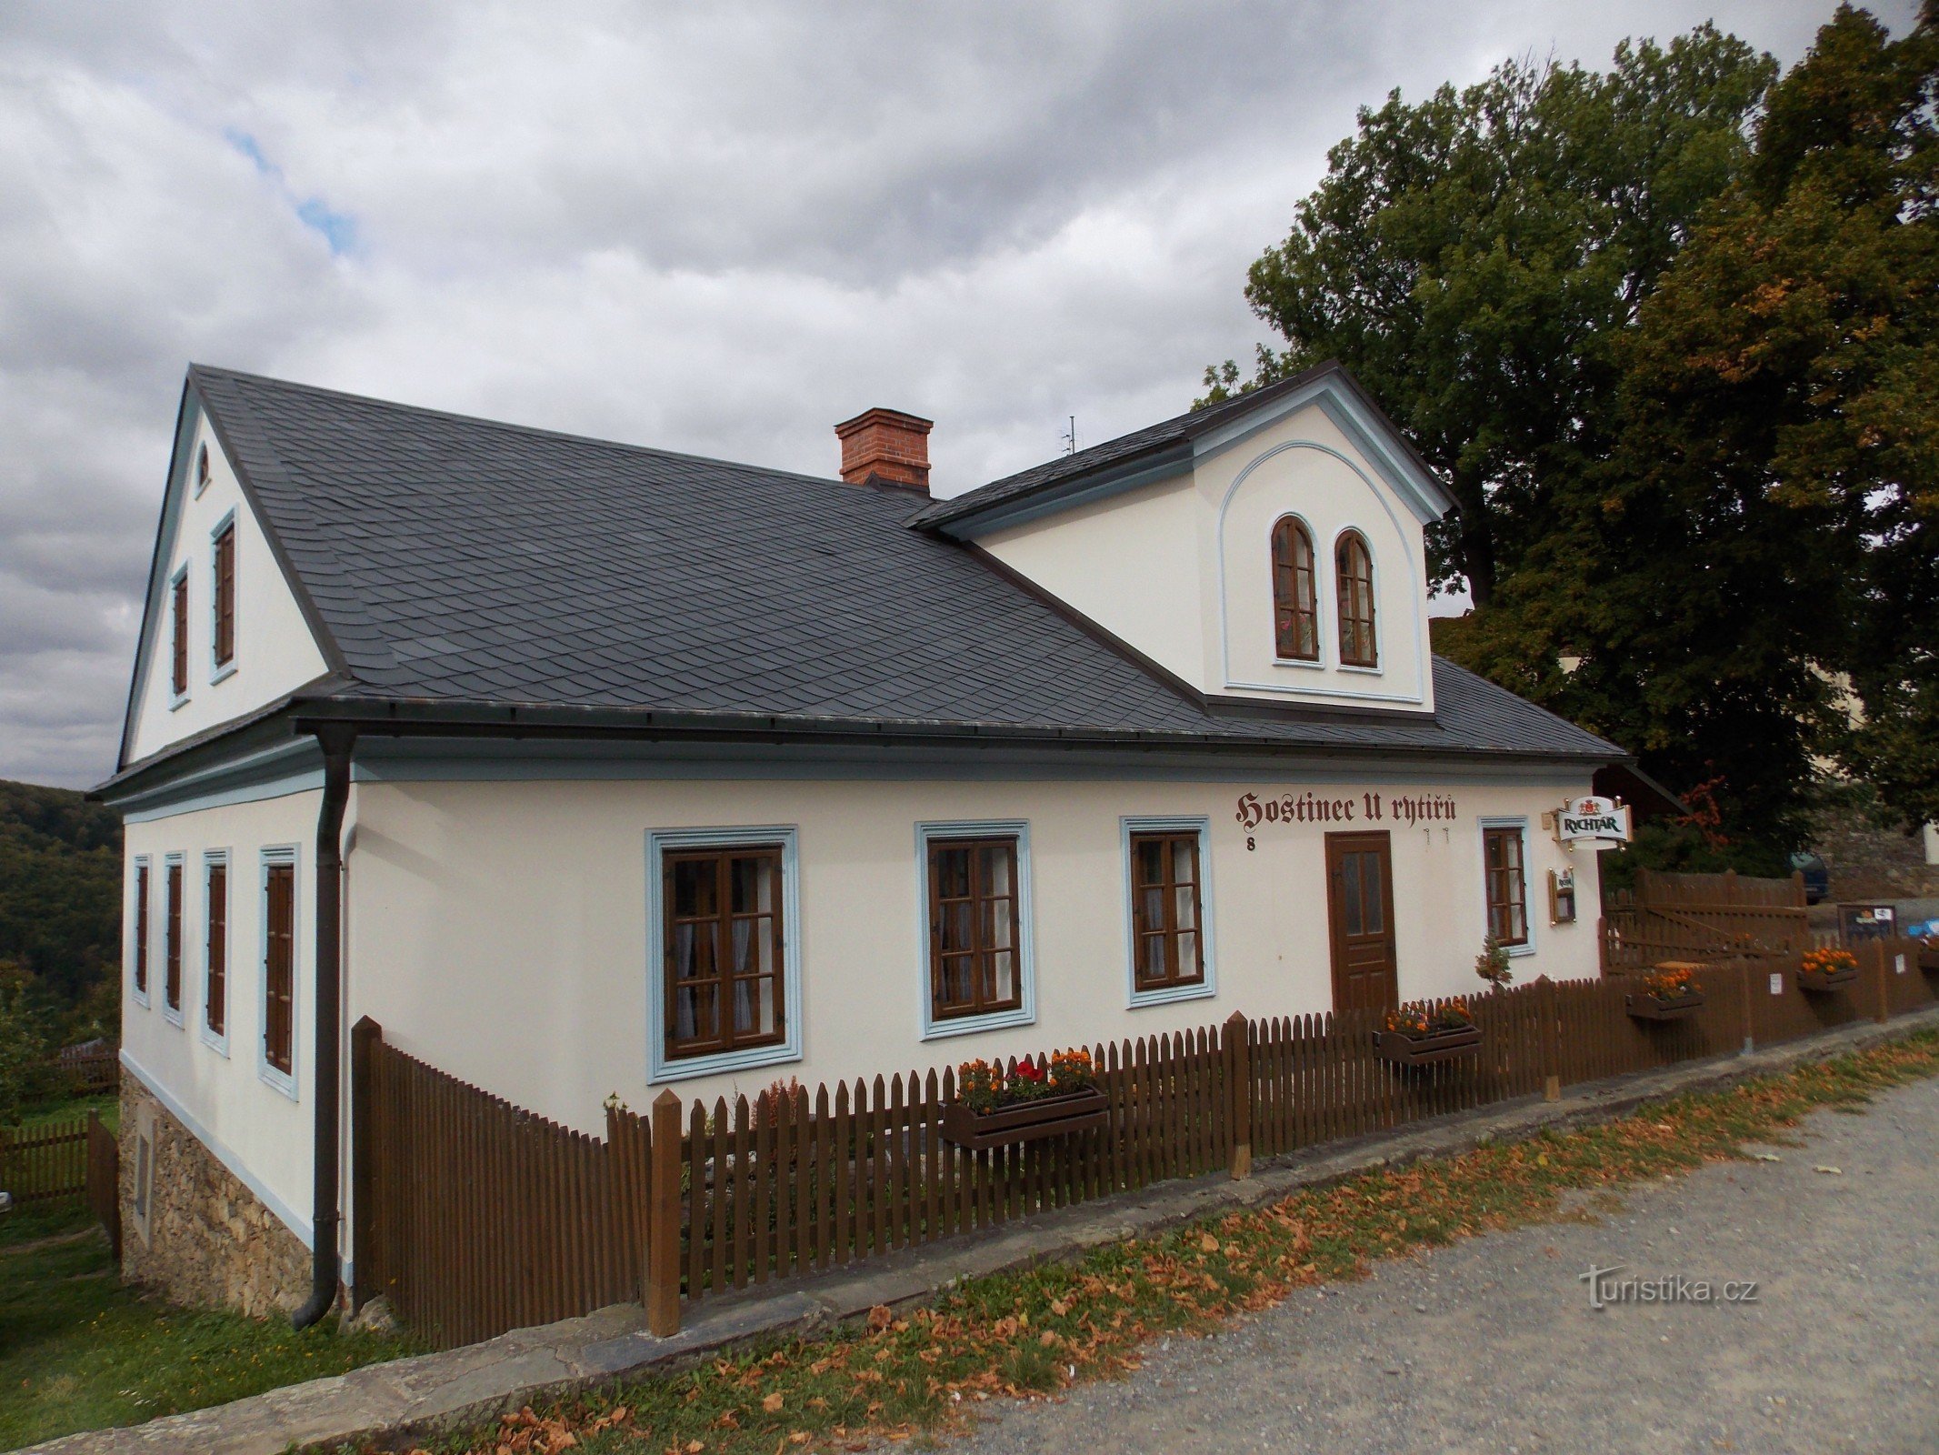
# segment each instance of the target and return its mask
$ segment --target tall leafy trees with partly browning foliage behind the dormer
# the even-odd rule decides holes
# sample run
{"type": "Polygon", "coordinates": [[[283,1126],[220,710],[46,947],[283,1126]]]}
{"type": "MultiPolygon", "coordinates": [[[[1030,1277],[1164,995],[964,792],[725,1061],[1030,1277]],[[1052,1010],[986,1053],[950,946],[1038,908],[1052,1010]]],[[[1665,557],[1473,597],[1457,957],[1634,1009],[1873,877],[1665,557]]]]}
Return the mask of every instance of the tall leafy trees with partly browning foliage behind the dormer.
{"type": "MultiPolygon", "coordinates": [[[[1549,68],[1528,89],[1526,70],[1505,68],[1483,97],[1507,87],[1536,111],[1551,89],[1584,97],[1553,114],[1590,132],[1542,155],[1681,161],[1637,169],[1619,204],[1569,167],[1542,186],[1518,173],[1524,200],[1491,215],[1439,175],[1396,196],[1402,215],[1439,206],[1450,229],[1495,229],[1491,248],[1456,250],[1462,268],[1425,270],[1417,246],[1396,246],[1386,206],[1351,237],[1315,225],[1365,171],[1357,157],[1386,134],[1384,118],[1415,114],[1390,101],[1336,149],[1293,239],[1253,270],[1255,305],[1278,301],[1262,312],[1289,338],[1262,369],[1338,353],[1454,479],[1462,534],[1443,570],[1468,574],[1478,611],[1437,638],[1443,650],[1640,753],[1671,786],[1702,786],[1743,867],[1776,867],[1801,840],[1813,755],[1830,747],[1908,819],[1939,811],[1933,33],[1931,6],[1898,41],[1840,8],[1768,87],[1764,62],[1708,29],[1662,52],[1619,52],[1604,78],[1549,68]],[[1656,146],[1600,140],[1611,93],[1671,97],[1633,107],[1652,118],[1656,146]],[[1730,97],[1747,99],[1733,109],[1730,97]],[[1551,250],[1555,266],[1538,268],[1528,217],[1567,215],[1549,202],[1567,188],[1602,200],[1582,215],[1613,210],[1656,229],[1631,229],[1611,258],[1600,244],[1576,264],[1551,250]],[[1351,266],[1320,266],[1322,239],[1355,254],[1351,266]],[[1433,314],[1423,293],[1452,295],[1443,279],[1476,275],[1481,254],[1505,260],[1485,277],[1526,287],[1495,299],[1468,287],[1468,334],[1452,316],[1419,328],[1433,314]],[[1586,277],[1611,268],[1621,287],[1557,334],[1543,287],[1582,301],[1586,277]],[[1408,320],[1400,349],[1357,314],[1367,289],[1338,281],[1383,272],[1412,279],[1394,314],[1408,320]],[[1365,340],[1328,322],[1348,316],[1365,340]],[[1489,382],[1503,372],[1489,351],[1520,357],[1516,345],[1551,338],[1571,349],[1543,355],[1547,384],[1528,371],[1520,394],[1489,382]],[[1518,438],[1503,415],[1534,425],[1518,438]],[[1462,440],[1466,454],[1450,452],[1462,440]],[[1476,532],[1485,541],[1470,543],[1476,532]],[[1487,574],[1476,576],[1483,547],[1487,574]],[[1844,679],[1865,704],[1856,733],[1842,731],[1844,679]]],[[[1417,113],[1450,103],[1443,91],[1417,113]]],[[[1491,134],[1460,126],[1476,130],[1470,147],[1491,134]]],[[[1237,382],[1235,371],[1222,378],[1237,382]]]]}

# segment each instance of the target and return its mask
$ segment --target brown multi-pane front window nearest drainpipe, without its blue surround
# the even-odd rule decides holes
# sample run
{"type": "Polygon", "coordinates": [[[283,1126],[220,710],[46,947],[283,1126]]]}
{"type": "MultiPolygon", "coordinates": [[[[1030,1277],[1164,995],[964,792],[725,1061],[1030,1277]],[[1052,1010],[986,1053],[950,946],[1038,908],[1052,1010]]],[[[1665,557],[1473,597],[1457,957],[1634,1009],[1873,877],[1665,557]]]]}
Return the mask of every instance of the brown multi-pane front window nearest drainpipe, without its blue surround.
{"type": "Polygon", "coordinates": [[[667,852],[661,892],[667,1057],[779,1044],[781,846],[667,852]]]}

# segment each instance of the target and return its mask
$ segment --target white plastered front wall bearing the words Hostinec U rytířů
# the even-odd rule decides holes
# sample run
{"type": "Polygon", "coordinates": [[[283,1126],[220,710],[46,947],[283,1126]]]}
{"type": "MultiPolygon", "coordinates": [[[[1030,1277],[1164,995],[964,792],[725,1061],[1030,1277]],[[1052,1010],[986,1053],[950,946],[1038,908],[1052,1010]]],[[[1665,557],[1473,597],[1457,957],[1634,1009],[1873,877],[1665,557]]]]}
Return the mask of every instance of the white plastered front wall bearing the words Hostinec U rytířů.
{"type": "Polygon", "coordinates": [[[791,824],[799,832],[803,1059],[673,1083],[683,1098],[929,1069],[1068,1044],[1206,1026],[1233,1011],[1330,1007],[1328,830],[1392,832],[1400,995],[1481,989],[1483,817],[1526,819],[1534,953],[1518,980],[1598,974],[1596,859],[1563,854],[1542,813],[1588,792],[1547,784],[1156,782],[365,782],[349,875],[349,1018],[456,1077],[574,1127],[601,1102],[644,1108],[648,1084],[646,836],[655,828],[791,824]],[[1266,823],[1237,799],[1307,792],[1351,823],[1266,823]],[[1383,793],[1379,823],[1365,795],[1383,793]],[[1396,821],[1392,795],[1441,793],[1446,823],[1396,821]],[[1218,995],[1128,1009],[1121,815],[1210,821],[1218,995]],[[921,1040],[925,947],[913,828],[1024,819],[1032,836],[1037,1020],[921,1040]],[[1253,848],[1247,848],[1247,838],[1253,848]],[[1584,916],[1547,923],[1545,871],[1576,869],[1584,916]]]}

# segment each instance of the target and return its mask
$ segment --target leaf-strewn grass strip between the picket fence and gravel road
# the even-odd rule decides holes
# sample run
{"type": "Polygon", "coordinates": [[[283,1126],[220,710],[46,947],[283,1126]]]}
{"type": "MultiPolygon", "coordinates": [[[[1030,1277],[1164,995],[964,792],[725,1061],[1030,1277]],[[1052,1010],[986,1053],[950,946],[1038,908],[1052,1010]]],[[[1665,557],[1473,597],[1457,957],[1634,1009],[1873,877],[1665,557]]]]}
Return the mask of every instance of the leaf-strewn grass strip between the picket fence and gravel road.
{"type": "Polygon", "coordinates": [[[1635,1116],[1419,1162],[1099,1247],[1074,1265],[975,1278],[907,1317],[766,1342],[698,1368],[543,1403],[434,1451],[781,1455],[944,1436],[979,1403],[1043,1397],[1138,1364],[1146,1341],[1198,1333],[1299,1286],[1357,1278],[1373,1261],[1501,1228],[1590,1216],[1596,1193],[1743,1158],[1815,1110],[1939,1075],[1922,1032],[1782,1077],[1679,1096],[1635,1116]]]}

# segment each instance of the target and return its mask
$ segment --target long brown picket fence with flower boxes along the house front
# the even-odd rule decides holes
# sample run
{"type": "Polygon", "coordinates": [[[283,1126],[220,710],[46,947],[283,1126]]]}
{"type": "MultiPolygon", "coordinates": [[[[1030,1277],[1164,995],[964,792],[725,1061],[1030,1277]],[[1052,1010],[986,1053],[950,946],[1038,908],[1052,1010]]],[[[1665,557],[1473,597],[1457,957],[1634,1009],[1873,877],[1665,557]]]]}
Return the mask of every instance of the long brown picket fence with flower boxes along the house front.
{"type": "Polygon", "coordinates": [[[1860,980],[1830,995],[1799,991],[1796,954],[1716,964],[1701,1013],[1673,1022],[1633,1018],[1627,976],[1491,991],[1468,1001],[1479,1051],[1431,1067],[1383,1061],[1377,1013],[1233,1015],[1092,1048],[1105,1125],[989,1150],[942,1137],[952,1069],[733,1104],[667,1090],[644,1116],[609,1108],[601,1141],[361,1022],[357,1294],[388,1294],[444,1344],[632,1300],[665,1335],[694,1300],[1939,999],[1939,964],[1922,972],[1916,941],[1875,941],[1860,960],[1860,980]]]}

